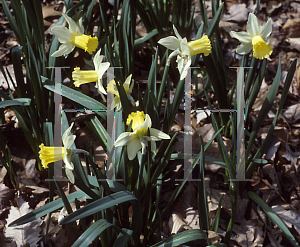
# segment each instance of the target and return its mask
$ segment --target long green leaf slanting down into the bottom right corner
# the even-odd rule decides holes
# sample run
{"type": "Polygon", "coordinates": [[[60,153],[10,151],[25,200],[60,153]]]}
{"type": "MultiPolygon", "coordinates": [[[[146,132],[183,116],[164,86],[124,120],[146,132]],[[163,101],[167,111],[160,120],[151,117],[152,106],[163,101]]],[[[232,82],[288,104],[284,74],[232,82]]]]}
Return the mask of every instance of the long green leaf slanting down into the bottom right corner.
{"type": "Polygon", "coordinates": [[[271,221],[277,225],[280,230],[284,233],[284,235],[287,237],[287,239],[290,241],[290,243],[294,247],[299,247],[299,244],[297,243],[296,239],[292,235],[292,233],[289,231],[287,226],[282,222],[282,220],[272,211],[272,209],[268,206],[267,203],[265,203],[258,195],[256,195],[253,191],[248,192],[249,197],[255,201],[267,214],[267,216],[271,219],[271,221]]]}

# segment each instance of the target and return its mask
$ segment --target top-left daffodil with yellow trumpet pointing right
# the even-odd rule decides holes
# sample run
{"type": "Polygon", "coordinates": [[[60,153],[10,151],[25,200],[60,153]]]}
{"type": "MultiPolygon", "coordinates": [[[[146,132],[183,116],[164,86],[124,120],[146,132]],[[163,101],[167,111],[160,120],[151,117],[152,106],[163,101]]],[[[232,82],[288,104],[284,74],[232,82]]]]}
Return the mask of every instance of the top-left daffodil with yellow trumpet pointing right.
{"type": "Polygon", "coordinates": [[[64,26],[54,26],[51,28],[52,33],[58,38],[62,45],[54,52],[52,57],[66,56],[71,53],[75,46],[92,54],[98,46],[98,38],[85,35],[80,18],[78,25],[76,22],[66,14],[63,14],[69,24],[69,29],[64,26]]]}

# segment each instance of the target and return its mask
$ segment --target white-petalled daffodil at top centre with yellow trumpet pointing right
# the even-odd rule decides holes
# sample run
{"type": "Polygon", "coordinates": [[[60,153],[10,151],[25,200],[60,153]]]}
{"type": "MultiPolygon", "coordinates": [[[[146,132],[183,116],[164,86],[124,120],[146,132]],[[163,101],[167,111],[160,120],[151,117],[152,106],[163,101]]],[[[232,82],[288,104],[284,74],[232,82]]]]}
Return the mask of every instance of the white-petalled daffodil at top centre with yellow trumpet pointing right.
{"type": "Polygon", "coordinates": [[[173,25],[174,33],[176,37],[169,36],[158,41],[159,44],[165,46],[170,50],[174,50],[168,58],[167,65],[173,57],[177,56],[177,64],[180,73],[180,80],[183,80],[187,75],[187,70],[191,66],[191,55],[204,53],[204,56],[208,56],[211,53],[211,44],[207,35],[201,39],[187,42],[186,38],[182,38],[178,33],[176,27],[173,25]]]}

